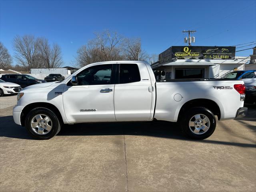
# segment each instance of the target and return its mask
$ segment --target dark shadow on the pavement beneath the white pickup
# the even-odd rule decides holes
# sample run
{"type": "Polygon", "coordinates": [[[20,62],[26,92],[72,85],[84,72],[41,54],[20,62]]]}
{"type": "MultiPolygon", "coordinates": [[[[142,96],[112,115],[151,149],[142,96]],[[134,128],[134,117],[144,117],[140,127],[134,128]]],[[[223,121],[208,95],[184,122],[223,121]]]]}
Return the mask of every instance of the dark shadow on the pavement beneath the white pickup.
{"type": "MultiPolygon", "coordinates": [[[[0,117],[0,137],[28,139],[33,138],[28,135],[26,128],[13,122],[12,116],[0,117]]],[[[256,128],[255,128],[256,129],[256,128]]],[[[170,138],[175,140],[190,140],[180,131],[177,123],[165,121],[153,122],[109,122],[109,123],[82,123],[65,125],[60,133],[55,136],[100,136],[100,135],[138,135],[152,136],[159,138],[170,138]]],[[[54,139],[54,138],[52,138],[54,139]]],[[[194,141],[194,140],[191,140],[194,141]]],[[[252,147],[256,144],[226,142],[220,140],[198,140],[197,142],[210,144],[224,144],[230,146],[252,147]]]]}

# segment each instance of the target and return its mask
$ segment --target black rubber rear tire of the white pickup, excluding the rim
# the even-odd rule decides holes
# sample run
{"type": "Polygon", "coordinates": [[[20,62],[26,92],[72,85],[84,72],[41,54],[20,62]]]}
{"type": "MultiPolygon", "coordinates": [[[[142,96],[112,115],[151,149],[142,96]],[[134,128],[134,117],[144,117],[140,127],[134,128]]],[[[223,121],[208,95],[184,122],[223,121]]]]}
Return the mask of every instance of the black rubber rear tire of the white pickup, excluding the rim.
{"type": "MultiPolygon", "coordinates": [[[[202,118],[204,116],[201,116],[202,118]]],[[[191,139],[196,139],[196,140],[202,140],[210,137],[215,128],[216,128],[216,118],[214,114],[208,110],[207,108],[204,107],[194,107],[191,108],[190,110],[187,110],[186,112],[183,113],[183,115],[180,118],[180,125],[182,128],[182,132],[189,138],[191,139]],[[190,119],[195,116],[196,114],[203,114],[204,116],[208,117],[209,122],[210,122],[210,127],[209,129],[204,132],[203,130],[200,130],[198,134],[195,134],[191,129],[195,128],[193,126],[189,126],[190,119]]],[[[200,129],[200,128],[198,128],[200,129]]]]}

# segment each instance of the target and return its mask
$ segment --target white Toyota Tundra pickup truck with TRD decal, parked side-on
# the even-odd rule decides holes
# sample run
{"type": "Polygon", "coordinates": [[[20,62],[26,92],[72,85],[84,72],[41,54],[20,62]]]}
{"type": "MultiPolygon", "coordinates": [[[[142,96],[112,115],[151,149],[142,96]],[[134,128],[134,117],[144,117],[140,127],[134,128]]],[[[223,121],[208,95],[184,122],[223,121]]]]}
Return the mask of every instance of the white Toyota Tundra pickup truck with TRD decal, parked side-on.
{"type": "Polygon", "coordinates": [[[215,115],[245,116],[244,98],[242,80],[157,82],[147,62],[98,62],[63,81],[22,89],[13,118],[36,139],[52,138],[63,124],[154,119],[178,122],[188,137],[204,139],[215,130],[215,115]]]}

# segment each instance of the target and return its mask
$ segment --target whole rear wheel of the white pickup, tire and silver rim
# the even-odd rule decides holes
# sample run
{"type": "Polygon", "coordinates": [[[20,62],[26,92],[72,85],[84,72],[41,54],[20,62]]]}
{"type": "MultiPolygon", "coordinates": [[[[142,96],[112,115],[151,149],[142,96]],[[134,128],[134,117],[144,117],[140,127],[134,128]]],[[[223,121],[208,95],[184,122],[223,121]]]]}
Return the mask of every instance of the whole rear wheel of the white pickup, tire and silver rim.
{"type": "Polygon", "coordinates": [[[194,107],[181,117],[182,132],[192,139],[202,140],[210,137],[216,128],[214,114],[204,107],[194,107]]]}

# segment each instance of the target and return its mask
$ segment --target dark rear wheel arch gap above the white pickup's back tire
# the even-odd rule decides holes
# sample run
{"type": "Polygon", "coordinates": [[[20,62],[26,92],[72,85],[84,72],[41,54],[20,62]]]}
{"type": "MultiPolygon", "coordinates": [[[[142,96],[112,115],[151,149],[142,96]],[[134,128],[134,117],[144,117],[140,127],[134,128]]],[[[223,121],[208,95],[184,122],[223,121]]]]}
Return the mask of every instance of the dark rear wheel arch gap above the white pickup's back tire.
{"type": "Polygon", "coordinates": [[[180,108],[180,112],[178,115],[178,120],[182,118],[182,114],[186,112],[186,110],[189,110],[190,108],[193,107],[204,107],[210,110],[214,115],[218,116],[218,120],[220,120],[221,117],[221,112],[220,112],[220,107],[216,102],[210,99],[193,99],[185,104],[180,108]]]}

